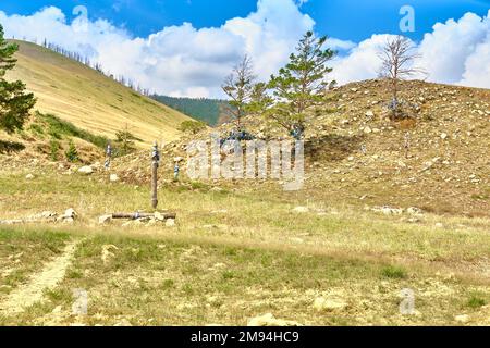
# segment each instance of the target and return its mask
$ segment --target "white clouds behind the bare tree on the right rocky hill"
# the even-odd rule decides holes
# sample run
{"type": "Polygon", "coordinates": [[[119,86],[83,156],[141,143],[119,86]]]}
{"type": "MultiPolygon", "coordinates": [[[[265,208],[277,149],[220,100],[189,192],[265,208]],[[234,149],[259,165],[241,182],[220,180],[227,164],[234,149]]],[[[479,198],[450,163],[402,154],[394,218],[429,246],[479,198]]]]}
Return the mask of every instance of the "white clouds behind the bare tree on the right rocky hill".
{"type": "MultiPolygon", "coordinates": [[[[390,37],[373,35],[336,59],[333,77],[340,84],[377,77],[377,51],[390,37]]],[[[490,88],[490,11],[483,17],[466,13],[458,21],[436,24],[415,50],[420,55],[416,65],[428,80],[490,88]]]]}

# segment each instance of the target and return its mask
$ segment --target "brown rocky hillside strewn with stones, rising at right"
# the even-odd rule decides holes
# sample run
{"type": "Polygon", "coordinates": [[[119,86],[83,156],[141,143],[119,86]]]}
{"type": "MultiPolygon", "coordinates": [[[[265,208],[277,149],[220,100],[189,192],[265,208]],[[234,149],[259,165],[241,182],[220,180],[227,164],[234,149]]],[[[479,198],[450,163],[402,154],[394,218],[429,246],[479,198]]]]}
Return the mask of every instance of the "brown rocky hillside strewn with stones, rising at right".
{"type": "MultiPolygon", "coordinates": [[[[381,80],[350,84],[331,92],[324,110],[311,115],[306,135],[305,189],[290,195],[360,207],[418,207],[428,212],[490,215],[490,90],[406,82],[402,98],[411,121],[390,121],[381,80]],[[406,149],[408,145],[408,149],[406,149]]],[[[286,137],[259,117],[246,128],[259,138],[286,137]]],[[[222,136],[232,125],[207,130],[222,136]]],[[[174,157],[185,158],[191,138],[163,149],[164,183],[174,157]]],[[[126,182],[148,183],[147,152],[121,159],[115,171],[126,182]]],[[[185,164],[182,167],[185,184],[185,164]]],[[[271,181],[207,183],[209,187],[280,191],[271,181]]],[[[218,189],[219,189],[218,188],[218,189]]]]}

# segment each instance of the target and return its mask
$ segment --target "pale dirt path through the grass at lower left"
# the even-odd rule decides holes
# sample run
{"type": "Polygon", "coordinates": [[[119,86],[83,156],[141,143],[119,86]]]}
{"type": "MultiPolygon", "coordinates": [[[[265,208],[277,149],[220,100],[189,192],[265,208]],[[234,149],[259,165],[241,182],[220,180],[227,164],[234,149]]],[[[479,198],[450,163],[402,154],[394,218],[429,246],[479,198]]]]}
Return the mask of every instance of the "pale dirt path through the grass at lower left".
{"type": "Polygon", "coordinates": [[[69,244],[61,256],[45,264],[44,269],[30,276],[27,284],[12,291],[0,302],[0,313],[13,315],[42,300],[45,289],[53,288],[63,279],[70,261],[79,241],[69,244]]]}

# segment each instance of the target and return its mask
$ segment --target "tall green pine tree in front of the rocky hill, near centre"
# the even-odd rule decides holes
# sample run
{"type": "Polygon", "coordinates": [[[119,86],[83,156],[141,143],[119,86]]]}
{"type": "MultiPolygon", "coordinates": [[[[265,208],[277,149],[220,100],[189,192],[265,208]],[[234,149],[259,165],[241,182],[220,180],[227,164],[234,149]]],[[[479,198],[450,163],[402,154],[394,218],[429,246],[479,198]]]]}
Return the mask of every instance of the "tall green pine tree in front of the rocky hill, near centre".
{"type": "Polygon", "coordinates": [[[269,87],[279,100],[271,113],[280,125],[295,138],[302,138],[306,128],[306,111],[323,101],[326,90],[335,84],[326,80],[332,71],[327,66],[335,52],[324,49],[327,37],[317,38],[308,32],[299,40],[287,65],[271,76],[269,87]]]}

